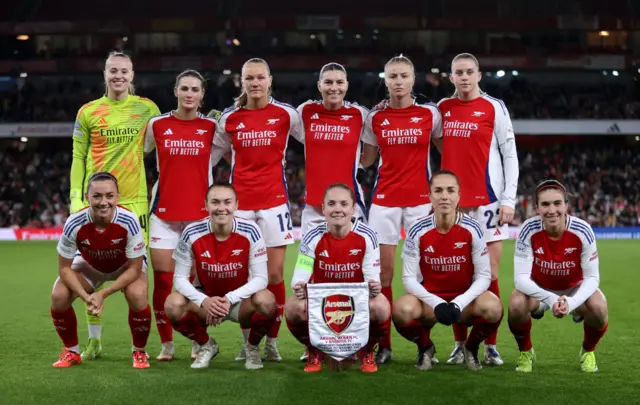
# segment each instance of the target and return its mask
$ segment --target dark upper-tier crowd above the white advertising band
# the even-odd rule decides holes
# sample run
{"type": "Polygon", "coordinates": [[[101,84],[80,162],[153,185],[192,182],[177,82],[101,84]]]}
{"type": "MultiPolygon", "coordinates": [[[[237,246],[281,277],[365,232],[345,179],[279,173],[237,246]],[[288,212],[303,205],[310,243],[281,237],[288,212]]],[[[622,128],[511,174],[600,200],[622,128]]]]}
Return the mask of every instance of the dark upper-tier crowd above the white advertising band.
{"type": "MultiPolygon", "coordinates": [[[[448,80],[428,75],[419,81],[416,92],[433,101],[450,96],[453,89],[448,80]]],[[[97,79],[99,80],[99,78],[97,79]]],[[[231,105],[239,91],[233,76],[219,86],[209,83],[205,106],[224,109],[231,105]]],[[[542,86],[523,78],[515,78],[508,85],[483,82],[482,88],[494,97],[501,98],[509,106],[512,118],[640,118],[640,84],[634,86],[554,85],[542,86]],[[634,87],[635,86],[635,87],[634,87]]],[[[315,81],[297,85],[278,84],[274,81],[274,96],[282,102],[298,105],[308,99],[318,98],[315,81]]],[[[29,80],[18,87],[0,90],[0,122],[70,121],[82,104],[100,97],[103,85],[93,86],[78,81],[61,80],[35,86],[29,80]]],[[[175,108],[173,83],[156,86],[139,85],[137,93],[149,97],[162,111],[175,108]]],[[[348,99],[364,106],[373,106],[385,96],[381,80],[361,80],[358,75],[350,77],[348,99]]]]}

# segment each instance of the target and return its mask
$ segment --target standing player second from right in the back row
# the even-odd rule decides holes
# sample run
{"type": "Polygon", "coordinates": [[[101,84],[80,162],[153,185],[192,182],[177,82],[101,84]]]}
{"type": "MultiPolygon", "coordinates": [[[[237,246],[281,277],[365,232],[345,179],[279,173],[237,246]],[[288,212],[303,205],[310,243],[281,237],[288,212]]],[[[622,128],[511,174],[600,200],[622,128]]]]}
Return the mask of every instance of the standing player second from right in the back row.
{"type": "MultiPolygon", "coordinates": [[[[432,136],[440,136],[441,117],[435,104],[416,103],[412,95],[415,70],[409,58],[391,58],[384,74],[389,103],[367,116],[362,139],[380,149],[369,226],[380,241],[382,293],[393,302],[391,283],[400,228],[408,229],[431,211],[429,152],[432,136]]],[[[375,158],[375,154],[365,153],[363,166],[370,166],[375,158]]],[[[380,341],[376,363],[386,363],[391,356],[391,336],[387,332],[380,341]]]]}

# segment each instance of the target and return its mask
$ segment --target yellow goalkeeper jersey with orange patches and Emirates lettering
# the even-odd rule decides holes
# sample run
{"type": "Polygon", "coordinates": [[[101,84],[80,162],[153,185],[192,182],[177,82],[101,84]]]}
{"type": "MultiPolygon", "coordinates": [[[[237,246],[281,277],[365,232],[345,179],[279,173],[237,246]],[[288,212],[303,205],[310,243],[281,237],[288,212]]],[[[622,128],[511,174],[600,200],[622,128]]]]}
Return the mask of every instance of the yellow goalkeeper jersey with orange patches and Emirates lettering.
{"type": "Polygon", "coordinates": [[[108,171],[118,179],[120,204],[146,202],[144,133],[158,114],[153,101],[133,95],[120,101],[104,96],[83,105],[73,130],[71,200],[84,200],[89,177],[108,171]]]}

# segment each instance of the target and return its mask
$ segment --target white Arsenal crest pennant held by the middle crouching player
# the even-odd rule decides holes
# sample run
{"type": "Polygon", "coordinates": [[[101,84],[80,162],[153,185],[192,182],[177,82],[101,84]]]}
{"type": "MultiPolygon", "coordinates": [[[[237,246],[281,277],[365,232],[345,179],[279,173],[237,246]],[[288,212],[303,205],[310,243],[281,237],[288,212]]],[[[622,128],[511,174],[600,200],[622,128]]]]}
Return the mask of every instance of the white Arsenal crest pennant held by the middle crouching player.
{"type": "Polygon", "coordinates": [[[338,361],[369,341],[367,283],[307,284],[311,344],[338,361]]]}

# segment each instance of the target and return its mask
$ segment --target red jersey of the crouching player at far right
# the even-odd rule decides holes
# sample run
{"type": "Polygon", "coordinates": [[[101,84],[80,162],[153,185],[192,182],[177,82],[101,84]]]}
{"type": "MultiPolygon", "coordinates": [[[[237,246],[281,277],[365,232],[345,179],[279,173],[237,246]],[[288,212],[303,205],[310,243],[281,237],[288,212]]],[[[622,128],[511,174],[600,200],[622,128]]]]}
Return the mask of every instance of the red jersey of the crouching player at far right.
{"type": "Polygon", "coordinates": [[[520,228],[516,259],[530,263],[531,279],[539,287],[564,291],[582,282],[585,268],[597,266],[595,240],[591,226],[572,216],[567,216],[567,228],[560,239],[553,240],[537,216],[525,221],[520,228]]]}

